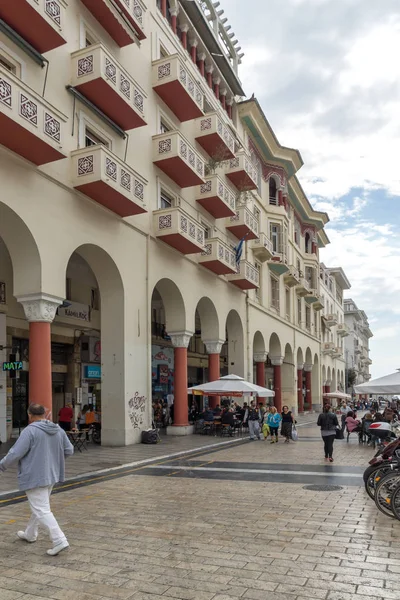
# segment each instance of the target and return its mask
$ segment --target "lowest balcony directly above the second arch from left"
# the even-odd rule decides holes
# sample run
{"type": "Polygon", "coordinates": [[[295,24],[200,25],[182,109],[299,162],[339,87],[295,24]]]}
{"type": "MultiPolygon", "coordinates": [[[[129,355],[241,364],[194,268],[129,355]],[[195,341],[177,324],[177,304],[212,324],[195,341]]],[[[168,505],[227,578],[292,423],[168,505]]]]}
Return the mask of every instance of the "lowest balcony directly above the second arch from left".
{"type": "Polygon", "coordinates": [[[73,187],[120,217],[146,212],[146,181],[102,145],[71,153],[73,187]]]}

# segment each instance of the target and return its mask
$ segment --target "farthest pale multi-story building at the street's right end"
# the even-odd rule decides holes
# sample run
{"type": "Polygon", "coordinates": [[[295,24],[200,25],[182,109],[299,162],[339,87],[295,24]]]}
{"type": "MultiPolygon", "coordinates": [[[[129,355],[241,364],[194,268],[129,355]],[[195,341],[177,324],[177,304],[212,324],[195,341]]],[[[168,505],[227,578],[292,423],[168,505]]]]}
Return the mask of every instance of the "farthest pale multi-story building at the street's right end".
{"type": "MultiPolygon", "coordinates": [[[[351,298],[344,301],[344,318],[349,329],[349,336],[345,341],[346,369],[350,377],[354,372],[353,385],[358,385],[371,379],[369,369],[372,360],[369,355],[369,340],[373,337],[373,333],[367,315],[351,298]]],[[[347,383],[348,391],[351,393],[353,385],[347,383]]]]}

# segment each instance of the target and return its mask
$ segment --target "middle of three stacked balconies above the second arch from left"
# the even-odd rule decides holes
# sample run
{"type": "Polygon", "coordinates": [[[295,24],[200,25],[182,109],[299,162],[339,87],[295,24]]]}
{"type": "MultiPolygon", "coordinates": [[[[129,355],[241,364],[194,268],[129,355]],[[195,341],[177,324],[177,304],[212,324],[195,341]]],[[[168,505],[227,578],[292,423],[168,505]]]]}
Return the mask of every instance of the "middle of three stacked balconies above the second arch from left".
{"type": "MultiPolygon", "coordinates": [[[[101,1],[101,0],[100,0],[101,1]]],[[[71,55],[72,86],[124,131],[146,125],[146,95],[102,44],[71,55]]]]}

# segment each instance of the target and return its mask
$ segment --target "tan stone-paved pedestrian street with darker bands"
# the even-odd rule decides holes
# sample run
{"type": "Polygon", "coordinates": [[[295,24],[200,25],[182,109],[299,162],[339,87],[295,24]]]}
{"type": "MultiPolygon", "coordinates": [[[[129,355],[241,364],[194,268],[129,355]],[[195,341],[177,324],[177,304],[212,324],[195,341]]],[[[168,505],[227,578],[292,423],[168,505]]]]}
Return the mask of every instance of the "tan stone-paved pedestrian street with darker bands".
{"type": "Polygon", "coordinates": [[[0,600],[398,600],[400,523],[377,511],[360,478],[337,491],[304,489],[306,473],[318,484],[361,474],[372,451],[336,442],[335,463],[325,465],[317,428],[299,435],[296,444],[239,442],[179,460],[159,454],[66,488],[53,509],[71,548],[55,558],[44,535],[16,539],[26,503],[0,504],[0,600]],[[216,468],[256,473],[220,479],[207,470],[216,468]]]}

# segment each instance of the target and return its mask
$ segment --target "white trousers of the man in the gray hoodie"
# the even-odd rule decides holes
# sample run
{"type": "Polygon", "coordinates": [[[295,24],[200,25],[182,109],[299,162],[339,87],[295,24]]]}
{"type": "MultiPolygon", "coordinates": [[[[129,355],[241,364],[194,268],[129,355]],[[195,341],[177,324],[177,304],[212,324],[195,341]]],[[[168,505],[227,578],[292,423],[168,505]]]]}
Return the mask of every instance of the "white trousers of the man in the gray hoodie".
{"type": "Polygon", "coordinates": [[[25,530],[25,535],[28,540],[36,540],[39,533],[39,525],[42,525],[49,532],[50,540],[53,546],[57,546],[66,541],[64,533],[61,531],[50,508],[50,496],[53,486],[35,488],[26,490],[29,506],[31,507],[32,515],[29,519],[28,526],[25,530]]]}

